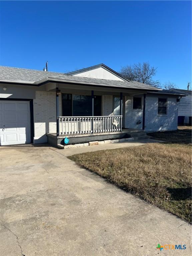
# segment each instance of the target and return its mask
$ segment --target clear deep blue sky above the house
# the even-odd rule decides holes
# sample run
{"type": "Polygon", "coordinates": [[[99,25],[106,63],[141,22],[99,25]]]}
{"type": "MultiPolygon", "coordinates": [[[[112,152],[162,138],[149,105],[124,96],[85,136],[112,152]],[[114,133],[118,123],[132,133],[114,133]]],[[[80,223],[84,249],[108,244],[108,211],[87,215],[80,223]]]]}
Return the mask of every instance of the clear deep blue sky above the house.
{"type": "Polygon", "coordinates": [[[191,1],[1,1],[0,65],[69,72],[149,61],[191,82],[191,1]]]}

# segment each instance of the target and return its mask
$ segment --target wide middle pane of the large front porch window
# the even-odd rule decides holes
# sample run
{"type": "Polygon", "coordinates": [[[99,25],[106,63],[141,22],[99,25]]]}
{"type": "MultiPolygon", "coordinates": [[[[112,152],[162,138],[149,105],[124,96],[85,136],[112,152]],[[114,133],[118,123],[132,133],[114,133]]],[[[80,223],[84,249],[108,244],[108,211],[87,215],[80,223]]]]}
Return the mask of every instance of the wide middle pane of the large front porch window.
{"type": "Polygon", "coordinates": [[[73,116],[91,116],[91,96],[73,95],[73,116]]]}

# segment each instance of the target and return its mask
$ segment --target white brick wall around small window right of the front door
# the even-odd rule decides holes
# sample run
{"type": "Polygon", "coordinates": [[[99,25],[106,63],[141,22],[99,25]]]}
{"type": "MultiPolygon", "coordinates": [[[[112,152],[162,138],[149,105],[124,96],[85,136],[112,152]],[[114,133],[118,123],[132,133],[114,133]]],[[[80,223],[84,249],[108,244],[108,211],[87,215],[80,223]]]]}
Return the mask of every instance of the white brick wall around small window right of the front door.
{"type": "Polygon", "coordinates": [[[125,110],[124,110],[125,128],[142,129],[143,110],[133,110],[132,100],[133,100],[133,97],[125,96],[125,110]],[[141,120],[141,123],[137,124],[139,120],[141,120]]]}

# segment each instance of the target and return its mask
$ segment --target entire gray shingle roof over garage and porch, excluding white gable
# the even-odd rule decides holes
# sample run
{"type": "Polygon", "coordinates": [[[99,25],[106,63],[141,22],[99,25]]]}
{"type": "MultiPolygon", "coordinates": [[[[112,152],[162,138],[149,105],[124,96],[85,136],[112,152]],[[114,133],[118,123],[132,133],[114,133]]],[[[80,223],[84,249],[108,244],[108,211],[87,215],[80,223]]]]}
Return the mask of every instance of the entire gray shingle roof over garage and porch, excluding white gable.
{"type": "Polygon", "coordinates": [[[107,80],[91,77],[71,76],[64,73],[40,71],[24,68],[12,68],[0,66],[0,82],[1,83],[21,83],[30,85],[42,85],[48,82],[62,82],[68,84],[84,84],[90,86],[104,86],[126,89],[140,89],[140,90],[161,90],[151,85],[138,83],[135,81],[118,81],[107,80]]]}

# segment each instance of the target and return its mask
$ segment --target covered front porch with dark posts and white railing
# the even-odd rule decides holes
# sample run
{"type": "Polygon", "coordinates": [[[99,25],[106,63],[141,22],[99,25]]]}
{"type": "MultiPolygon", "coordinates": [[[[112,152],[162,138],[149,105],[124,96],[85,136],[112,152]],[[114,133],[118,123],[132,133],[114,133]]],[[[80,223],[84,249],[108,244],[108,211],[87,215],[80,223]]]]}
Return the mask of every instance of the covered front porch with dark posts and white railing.
{"type": "MultiPolygon", "coordinates": [[[[126,129],[125,126],[126,97],[140,96],[142,114],[145,107],[143,90],[62,83],[46,84],[46,90],[56,92],[56,133],[47,133],[51,144],[56,144],[57,140],[57,144],[64,145],[65,137],[73,144],[130,138],[130,133],[143,135],[141,124],[139,129],[137,126],[126,129]]],[[[143,115],[138,120],[141,118],[143,115]]]]}

